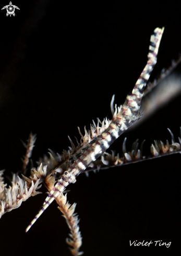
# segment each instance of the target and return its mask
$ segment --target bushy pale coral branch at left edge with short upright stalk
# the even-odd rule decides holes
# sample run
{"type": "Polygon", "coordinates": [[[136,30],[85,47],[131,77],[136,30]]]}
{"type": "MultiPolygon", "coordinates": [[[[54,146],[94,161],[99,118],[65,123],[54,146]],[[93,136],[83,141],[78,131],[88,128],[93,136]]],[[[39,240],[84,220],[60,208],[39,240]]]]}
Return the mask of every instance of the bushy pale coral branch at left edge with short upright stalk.
{"type": "MultiPolygon", "coordinates": [[[[27,148],[27,153],[23,161],[23,173],[26,171],[26,166],[28,164],[29,158],[31,157],[32,149],[34,147],[34,142],[36,136],[30,133],[28,144],[25,143],[24,146],[27,148]]],[[[41,187],[38,186],[46,176],[46,166],[40,165],[38,170],[31,171],[30,178],[27,178],[22,174],[22,177],[26,180],[22,180],[17,174],[13,174],[12,186],[6,187],[4,184],[3,174],[4,171],[0,172],[0,218],[6,212],[10,212],[13,209],[20,207],[21,203],[26,201],[30,196],[35,196],[41,194],[37,190],[41,187]]]]}

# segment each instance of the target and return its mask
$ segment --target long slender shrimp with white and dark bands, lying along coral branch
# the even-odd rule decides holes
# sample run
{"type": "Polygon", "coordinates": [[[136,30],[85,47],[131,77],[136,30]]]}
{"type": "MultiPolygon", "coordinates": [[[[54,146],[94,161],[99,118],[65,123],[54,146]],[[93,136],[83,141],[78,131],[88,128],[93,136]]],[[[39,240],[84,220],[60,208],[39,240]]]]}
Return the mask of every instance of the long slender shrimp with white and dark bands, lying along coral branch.
{"type": "Polygon", "coordinates": [[[86,149],[82,150],[80,157],[74,162],[67,171],[64,172],[61,179],[56,183],[54,190],[51,191],[43,204],[40,212],[32,220],[26,232],[34,224],[34,222],[40,217],[44,210],[52,203],[52,201],[63,192],[68,184],[75,183],[76,177],[84,171],[92,162],[100,157],[111,144],[132,124],[134,124],[141,116],[139,114],[141,98],[143,96],[144,88],[148,82],[150,74],[156,64],[156,57],[160,41],[162,38],[164,28],[156,28],[154,34],[150,39],[148,62],[142,71],[134,89],[127,95],[126,101],[120,112],[116,115],[110,126],[86,149]]]}

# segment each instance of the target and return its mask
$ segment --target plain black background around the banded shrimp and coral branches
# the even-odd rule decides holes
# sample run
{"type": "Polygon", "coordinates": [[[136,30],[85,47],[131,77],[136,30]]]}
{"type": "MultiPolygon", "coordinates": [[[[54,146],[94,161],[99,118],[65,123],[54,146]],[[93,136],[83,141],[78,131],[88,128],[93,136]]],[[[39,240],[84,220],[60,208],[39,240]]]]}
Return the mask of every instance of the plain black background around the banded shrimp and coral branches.
{"type": "MultiPolygon", "coordinates": [[[[1,1],[1,8],[8,1],[1,1]]],[[[150,35],[165,26],[151,81],[181,51],[180,6],[172,2],[18,1],[16,16],[0,12],[1,163],[5,176],[21,170],[30,131],[37,133],[32,159],[47,149],[61,153],[68,135],[80,138],[92,119],[111,118],[110,102],[124,102],[147,62],[150,35]]],[[[178,66],[175,71],[181,72],[178,66]]],[[[127,148],[137,138],[144,154],[154,139],[177,138],[178,95],[144,124],[126,133],[127,148]]],[[[111,147],[122,152],[124,137],[111,147]]],[[[110,152],[110,151],[108,151],[110,152]]],[[[85,255],[173,255],[180,250],[180,155],[80,175],[68,200],[77,203],[85,255]],[[129,240],[172,242],[130,247],[129,240]]],[[[31,197],[0,221],[1,255],[70,255],[68,227],[55,202],[28,233],[25,229],[46,197],[31,197]]]]}

